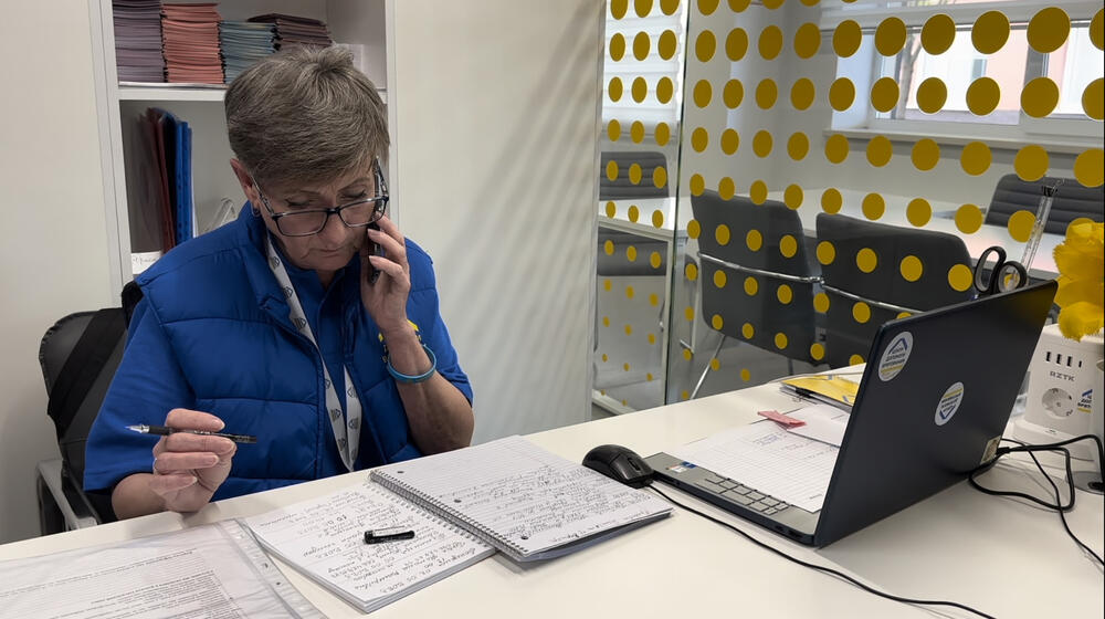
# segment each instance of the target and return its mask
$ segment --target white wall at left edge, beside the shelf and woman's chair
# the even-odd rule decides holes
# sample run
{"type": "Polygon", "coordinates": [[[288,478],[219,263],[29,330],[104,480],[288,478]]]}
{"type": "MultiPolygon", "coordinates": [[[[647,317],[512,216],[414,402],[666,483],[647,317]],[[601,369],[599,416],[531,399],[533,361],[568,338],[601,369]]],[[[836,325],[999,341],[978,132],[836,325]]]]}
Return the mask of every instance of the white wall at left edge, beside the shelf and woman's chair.
{"type": "Polygon", "coordinates": [[[65,314],[112,303],[87,6],[11,2],[4,11],[0,543],[39,534],[34,465],[57,455],[39,340],[65,314]]]}

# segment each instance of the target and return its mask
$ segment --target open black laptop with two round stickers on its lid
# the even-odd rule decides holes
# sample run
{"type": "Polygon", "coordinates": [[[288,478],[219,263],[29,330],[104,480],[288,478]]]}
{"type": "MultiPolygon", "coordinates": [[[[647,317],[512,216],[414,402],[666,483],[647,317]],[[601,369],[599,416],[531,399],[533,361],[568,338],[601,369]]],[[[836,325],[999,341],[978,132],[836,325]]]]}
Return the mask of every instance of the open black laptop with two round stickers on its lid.
{"type": "Polygon", "coordinates": [[[776,533],[836,542],[992,459],[1056,287],[1043,282],[880,327],[815,512],[667,453],[645,461],[656,479],[776,533]]]}

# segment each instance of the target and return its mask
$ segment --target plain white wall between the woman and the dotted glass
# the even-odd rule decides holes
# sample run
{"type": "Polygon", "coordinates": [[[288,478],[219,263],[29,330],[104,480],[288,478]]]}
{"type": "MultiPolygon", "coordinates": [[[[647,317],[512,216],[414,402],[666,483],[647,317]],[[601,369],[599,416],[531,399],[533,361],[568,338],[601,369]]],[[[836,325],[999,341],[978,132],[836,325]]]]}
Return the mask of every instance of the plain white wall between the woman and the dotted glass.
{"type": "Polygon", "coordinates": [[[394,2],[399,224],[434,259],[475,441],[590,410],[603,2],[394,2]]]}

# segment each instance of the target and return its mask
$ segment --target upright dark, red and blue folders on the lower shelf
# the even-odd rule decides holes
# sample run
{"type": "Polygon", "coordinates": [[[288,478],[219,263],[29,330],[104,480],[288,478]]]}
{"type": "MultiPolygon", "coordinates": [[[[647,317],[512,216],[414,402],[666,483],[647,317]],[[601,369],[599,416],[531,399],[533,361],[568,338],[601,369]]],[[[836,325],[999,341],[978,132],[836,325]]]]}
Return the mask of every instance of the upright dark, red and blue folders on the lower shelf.
{"type": "Polygon", "coordinates": [[[148,108],[128,133],[131,251],[164,253],[193,233],[191,127],[169,112],[148,108]]]}

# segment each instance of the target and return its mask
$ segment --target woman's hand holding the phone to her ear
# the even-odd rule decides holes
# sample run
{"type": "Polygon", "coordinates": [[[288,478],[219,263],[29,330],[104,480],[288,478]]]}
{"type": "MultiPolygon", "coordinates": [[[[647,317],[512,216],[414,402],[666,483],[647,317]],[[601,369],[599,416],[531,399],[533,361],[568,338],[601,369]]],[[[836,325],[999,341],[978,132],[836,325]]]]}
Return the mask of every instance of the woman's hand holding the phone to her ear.
{"type": "Polygon", "coordinates": [[[360,249],[360,301],[380,333],[387,335],[407,328],[411,276],[402,232],[388,217],[381,217],[377,223],[379,230],[365,229],[367,238],[360,249]],[[376,255],[377,245],[383,255],[376,255]],[[380,271],[375,283],[372,269],[380,271]]]}

